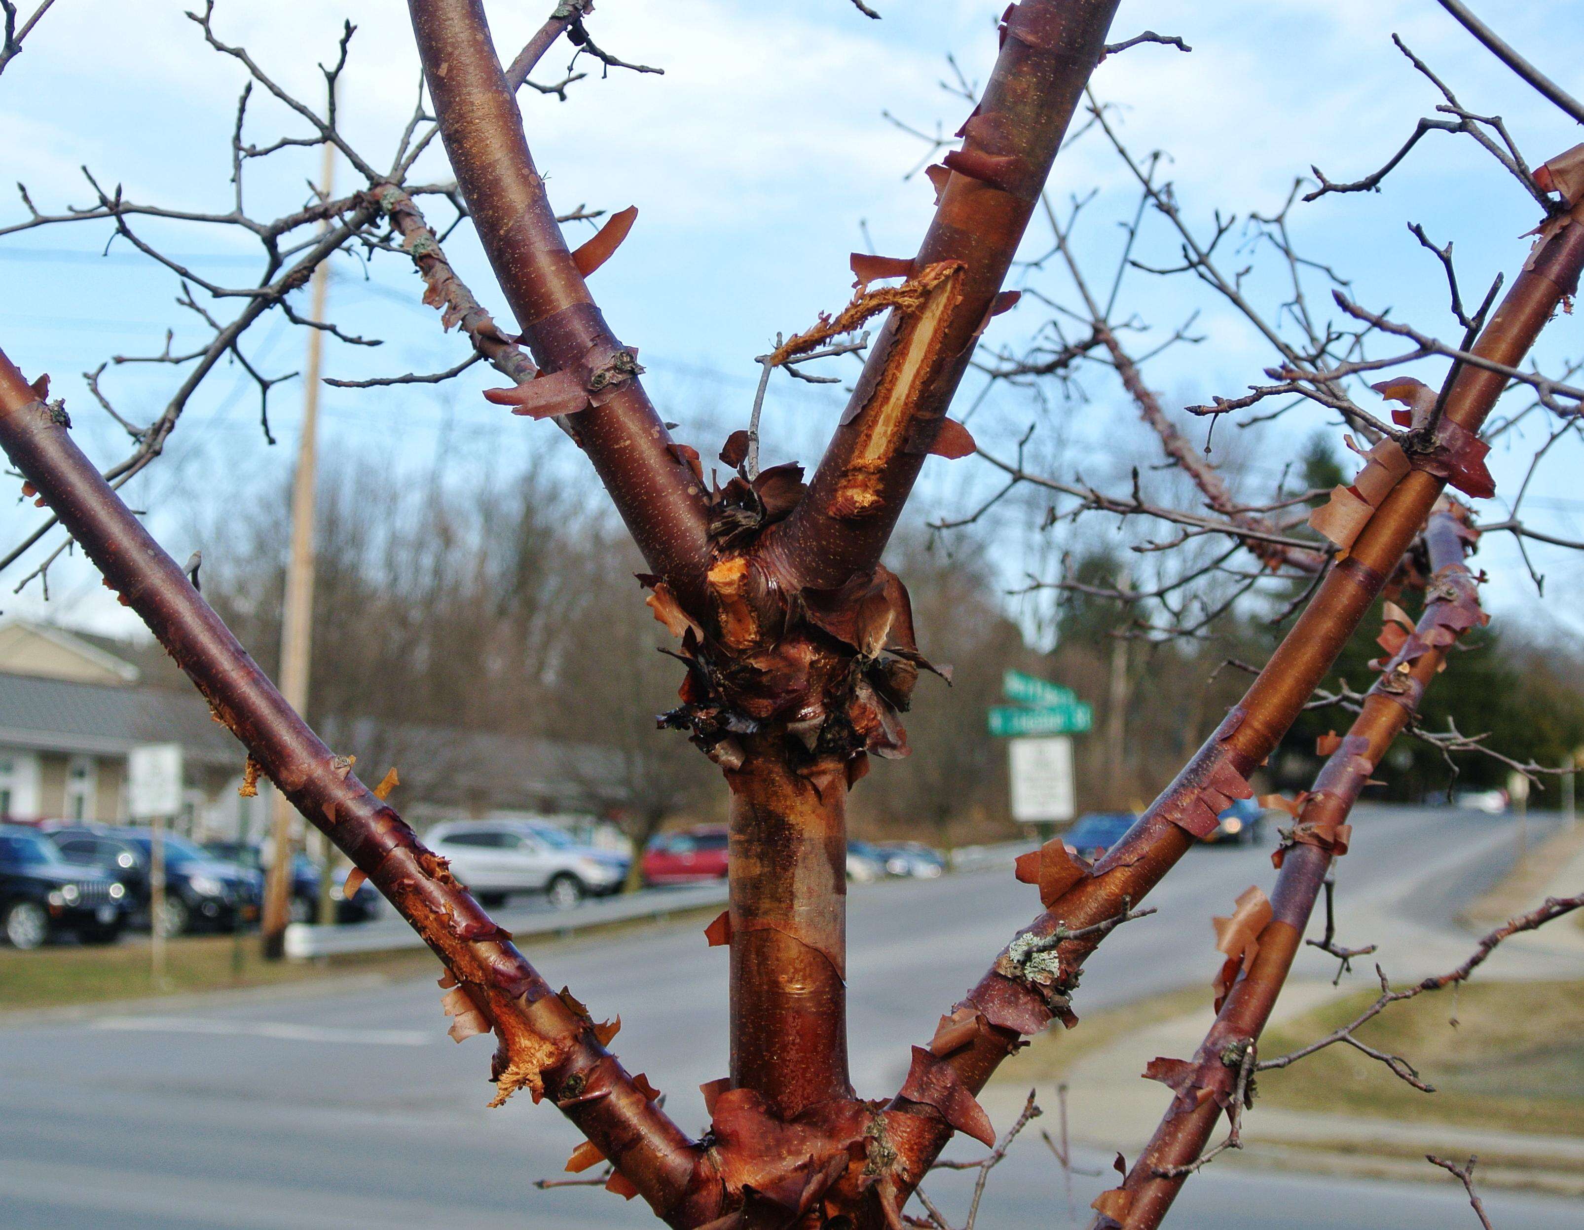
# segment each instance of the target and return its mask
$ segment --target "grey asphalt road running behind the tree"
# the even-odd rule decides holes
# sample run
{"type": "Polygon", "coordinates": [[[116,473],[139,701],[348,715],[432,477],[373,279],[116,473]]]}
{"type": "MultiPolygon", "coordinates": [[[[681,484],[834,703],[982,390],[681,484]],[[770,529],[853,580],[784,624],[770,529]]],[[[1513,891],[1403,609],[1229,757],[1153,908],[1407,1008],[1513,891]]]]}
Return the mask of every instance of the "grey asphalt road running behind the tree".
{"type": "MultiPolygon", "coordinates": [[[[1445,929],[1457,900],[1510,861],[1510,823],[1456,812],[1361,808],[1338,900],[1397,896],[1413,927],[1445,929]],[[1443,862],[1427,861],[1437,851],[1443,862]],[[1446,851],[1454,854],[1446,862],[1446,851]]],[[[1532,823],[1532,840],[1541,826],[1532,823]]],[[[1080,1013],[1185,984],[1220,957],[1209,916],[1250,883],[1266,850],[1196,850],[1152,897],[1159,913],[1118,929],[1091,961],[1080,1013]]],[[[1034,911],[1004,872],[855,889],[851,1035],[859,1092],[892,1092],[909,1040],[979,976],[1034,911]]],[[[1411,929],[1410,929],[1411,930],[1411,929]]],[[[1353,937],[1364,938],[1364,937],[1353,937]]],[[[1383,954],[1392,959],[1391,937],[1383,954]]],[[[1464,946],[1470,946],[1464,943],[1464,946]]],[[[725,956],[697,924],[572,940],[532,951],[596,1016],[621,1013],[615,1048],[703,1121],[697,1086],[724,1075],[725,956]]],[[[1402,954],[1407,959],[1408,954],[1402,954]]],[[[46,957],[48,959],[48,957],[46,957]]],[[[1329,965],[1305,954],[1318,972],[1329,965]]],[[[1497,964],[1500,956],[1492,964],[1497,964]]],[[[8,1230],[447,1227],[545,1230],[653,1225],[646,1209],[591,1190],[537,1192],[577,1143],[550,1108],[485,1110],[488,1040],[445,1038],[431,981],[353,980],[111,1008],[81,1018],[0,1018],[0,1224],[8,1230]]],[[[0,987],[3,1002],[3,987],[0,987]]],[[[17,1005],[6,1005],[17,1007],[17,1005]]],[[[1147,1059],[1140,1057],[1142,1060],[1147,1059]]],[[[1109,1159],[1079,1159],[1101,1167],[1109,1159]]],[[[960,1208],[965,1190],[938,1195],[960,1208]]],[[[1061,1176],[1038,1140],[995,1175],[979,1224],[1087,1224],[1101,1179],[1061,1176]]],[[[1497,1225],[1562,1230],[1578,1205],[1487,1192],[1497,1225]]],[[[1388,1184],[1210,1167],[1172,1225],[1261,1230],[1472,1225],[1456,1184],[1388,1184]]]]}

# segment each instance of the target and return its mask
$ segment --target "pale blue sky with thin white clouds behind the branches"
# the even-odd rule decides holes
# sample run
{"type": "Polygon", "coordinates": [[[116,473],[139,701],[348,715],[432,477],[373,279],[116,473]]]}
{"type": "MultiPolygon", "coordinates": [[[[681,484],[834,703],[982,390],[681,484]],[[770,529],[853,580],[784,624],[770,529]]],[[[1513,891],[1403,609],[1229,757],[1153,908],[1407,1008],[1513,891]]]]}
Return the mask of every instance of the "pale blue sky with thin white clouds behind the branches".
{"type": "MultiPolygon", "coordinates": [[[[239,65],[204,48],[182,16],[187,5],[144,0],[57,0],[27,51],[0,78],[0,155],[35,203],[59,211],[87,203],[81,165],[128,195],[162,204],[223,209],[228,135],[242,82],[239,65]]],[[[497,40],[515,49],[548,3],[491,5],[497,40]]],[[[706,455],[746,418],[760,353],[773,334],[806,327],[819,311],[838,308],[851,292],[847,254],[865,244],[863,225],[884,254],[916,249],[930,214],[922,179],[904,181],[920,151],[892,127],[889,109],[923,128],[936,119],[947,132],[966,105],[941,90],[944,55],[982,79],[995,54],[998,5],[979,0],[890,0],[885,19],[870,22],[846,0],[602,0],[596,36],[618,54],[662,65],[665,76],[613,73],[581,81],[572,100],[526,97],[529,141],[561,209],[637,204],[638,225],[618,257],[596,277],[594,290],[618,334],[638,346],[649,385],[684,439],[706,455]]],[[[1517,46],[1565,87],[1584,94],[1584,32],[1573,6],[1551,2],[1503,6],[1487,14],[1517,46]]],[[[222,0],[215,24],[223,38],[244,43],[268,70],[306,97],[317,97],[315,60],[333,52],[339,21],[360,27],[353,40],[342,108],[353,143],[372,160],[388,157],[412,111],[418,79],[406,6],[396,0],[222,0]]],[[[1272,209],[1293,179],[1321,165],[1335,179],[1373,170],[1437,101],[1434,92],[1392,48],[1400,33],[1475,109],[1500,113],[1527,152],[1544,159],[1579,139],[1576,125],[1529,94],[1486,55],[1430,0],[1291,0],[1278,6],[1245,0],[1217,5],[1125,3],[1114,36],[1144,29],[1178,33],[1194,52],[1140,48],[1096,74],[1102,98],[1120,105],[1120,120],[1137,152],[1172,154],[1171,174],[1190,219],[1215,209],[1243,214],[1272,209]]],[[[565,63],[558,49],[539,78],[565,63]]],[[[589,68],[588,62],[580,68],[589,68]]],[[[597,74],[596,74],[597,76],[597,74]]],[[[279,108],[258,105],[249,128],[257,139],[296,132],[279,108]],[[285,125],[285,127],[284,127],[285,125]]],[[[285,157],[274,178],[255,174],[257,216],[285,211],[315,174],[317,155],[285,157]]],[[[350,173],[342,168],[342,184],[350,173]]],[[[447,178],[437,144],[420,178],[447,178]]],[[[1085,260],[1109,268],[1115,217],[1128,209],[1126,174],[1096,141],[1063,155],[1052,192],[1066,198],[1099,189],[1080,230],[1085,260]]],[[[1370,197],[1332,198],[1296,211],[1294,233],[1312,255],[1334,262],[1354,279],[1356,296],[1391,306],[1449,336],[1440,271],[1408,236],[1405,222],[1424,222],[1438,241],[1454,239],[1470,287],[1483,288],[1498,269],[1522,263],[1533,206],[1500,176],[1472,143],[1435,135],[1370,197]]],[[[0,225],[24,217],[0,201],[0,225]]],[[[201,228],[149,227],[169,250],[192,255],[204,273],[242,279],[250,250],[238,238],[201,228]]],[[[86,223],[0,239],[0,284],[11,293],[0,306],[0,338],[30,374],[48,369],[79,423],[79,439],[109,461],[124,449],[117,430],[98,414],[78,372],[112,353],[149,353],[166,327],[185,328],[173,306],[174,279],[130,249],[97,257],[108,228],[86,223]]],[[[1031,233],[1026,255],[1047,236],[1031,233]]],[[[1148,252],[1169,260],[1159,228],[1148,252]]],[[[448,250],[480,296],[499,311],[477,247],[459,233],[448,250]]],[[[1049,285],[1045,274],[1038,285],[1049,285]]],[[[1261,293],[1275,295],[1262,274],[1261,293]]],[[[1229,312],[1209,304],[1186,284],[1129,282],[1133,306],[1171,328],[1194,306],[1205,341],[1172,352],[1148,369],[1167,404],[1236,395],[1269,361],[1229,312]]],[[[1277,300],[1270,298],[1274,306],[1277,300]]],[[[350,260],[337,265],[336,319],[358,333],[383,336],[377,352],[329,347],[333,376],[367,376],[450,366],[463,357],[455,338],[440,334],[436,315],[417,304],[413,277],[396,262],[375,266],[372,281],[350,260]]],[[[1031,303],[996,322],[992,341],[1015,342],[1039,319],[1031,303]]],[[[181,341],[181,333],[177,341],[181,341]]],[[[188,333],[187,336],[195,336],[188,333]]],[[[258,330],[257,357],[272,371],[301,363],[303,339],[280,320],[258,330]]],[[[1584,353],[1578,327],[1562,317],[1543,353],[1584,353]]],[[[1437,376],[1422,365],[1424,379],[1437,376]]],[[[491,384],[470,372],[445,390],[326,390],[326,447],[417,472],[445,458],[447,472],[466,477],[513,464],[531,453],[578,464],[548,425],[512,420],[478,390],[491,384]]],[[[174,385],[163,368],[117,368],[106,387],[133,418],[157,412],[174,385]]],[[[969,388],[968,392],[974,392],[969,388]]],[[[1115,480],[1147,456],[1148,441],[1133,409],[1102,382],[1095,401],[1077,409],[1038,409],[1020,395],[992,398],[976,417],[982,444],[1004,444],[1041,422],[1042,453],[1063,477],[1074,469],[1093,482],[1115,480]]],[[[257,428],[257,396],[233,371],[220,371],[192,404],[166,456],[130,490],[150,510],[152,525],[177,558],[193,542],[195,523],[212,515],[215,491],[225,499],[274,482],[290,464],[299,390],[272,395],[280,445],[269,449],[257,428]]],[[[767,412],[775,456],[813,460],[833,425],[840,395],[778,382],[767,412]]],[[[1280,472],[1283,460],[1323,415],[1297,414],[1256,439],[1217,433],[1218,455],[1248,483],[1280,472]]],[[[1202,434],[1202,425],[1193,430],[1202,434]]],[[[1335,431],[1340,439],[1340,431],[1335,431]]],[[[1514,433],[1517,434],[1517,433],[1514,433]]],[[[1516,490],[1524,458],[1538,442],[1529,434],[1494,455],[1498,487],[1516,490]],[[1527,445],[1527,447],[1525,447],[1527,445]]],[[[1584,536],[1584,491],[1574,472],[1584,450],[1559,444],[1536,477],[1525,515],[1536,528],[1584,536]]],[[[920,509],[971,507],[993,487],[976,461],[931,461],[920,509]]],[[[1492,515],[1498,515],[1492,512],[1492,515]]],[[[14,541],[35,523],[32,507],[0,514],[0,539],[14,541]]],[[[1011,531],[1009,542],[1012,541],[1011,531]]],[[[1020,552],[1017,547],[1015,552],[1020,552]]],[[[1014,548],[1009,552],[1015,555],[1014,548]]],[[[1533,553],[1548,574],[1551,612],[1533,602],[1533,586],[1508,542],[1483,550],[1492,574],[1487,601],[1541,628],[1578,631],[1584,569],[1560,552],[1533,553]]],[[[1023,556],[1006,561],[1009,574],[1023,556]]],[[[13,569],[16,577],[25,571],[13,569]]],[[[11,575],[11,574],[8,574],[11,575]]],[[[6,612],[43,610],[36,585],[19,598],[5,585],[6,612]]],[[[92,574],[63,561],[52,574],[57,618],[114,626],[124,612],[106,601],[92,574]]]]}

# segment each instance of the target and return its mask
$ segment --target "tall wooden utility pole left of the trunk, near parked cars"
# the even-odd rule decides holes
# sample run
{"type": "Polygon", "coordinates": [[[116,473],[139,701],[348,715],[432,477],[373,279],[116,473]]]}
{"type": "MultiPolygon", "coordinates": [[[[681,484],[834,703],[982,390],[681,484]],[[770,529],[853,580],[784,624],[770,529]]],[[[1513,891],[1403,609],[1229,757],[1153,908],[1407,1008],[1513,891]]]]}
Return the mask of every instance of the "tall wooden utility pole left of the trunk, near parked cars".
{"type": "MultiPolygon", "coordinates": [[[[325,200],[336,182],[336,147],[325,143],[320,185],[325,200]]],[[[320,231],[329,223],[322,222],[320,231]]],[[[314,300],[309,319],[325,319],[325,295],[329,288],[329,260],[314,269],[314,300]]],[[[291,556],[287,563],[285,618],[280,626],[280,694],[298,713],[307,713],[309,655],[314,640],[314,496],[318,482],[318,368],[323,353],[323,330],[307,331],[307,371],[303,388],[303,433],[298,439],[296,474],[291,479],[291,556]]],[[[285,956],[287,921],[291,911],[291,802],[282,791],[274,793],[274,858],[265,884],[265,918],[261,924],[265,957],[285,956]]],[[[323,837],[320,842],[323,843],[323,837]]],[[[329,865],[320,870],[322,889],[328,889],[329,865]]],[[[322,892],[328,897],[328,892],[322,892]]]]}

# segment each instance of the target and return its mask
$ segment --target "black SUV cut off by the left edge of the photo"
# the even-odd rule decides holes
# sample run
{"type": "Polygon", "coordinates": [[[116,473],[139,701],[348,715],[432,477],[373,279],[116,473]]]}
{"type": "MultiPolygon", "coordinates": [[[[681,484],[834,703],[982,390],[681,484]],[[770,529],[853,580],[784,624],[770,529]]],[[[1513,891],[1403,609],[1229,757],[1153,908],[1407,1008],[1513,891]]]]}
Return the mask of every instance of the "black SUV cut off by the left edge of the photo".
{"type": "Polygon", "coordinates": [[[114,943],[127,927],[127,889],[73,867],[33,829],[0,824],[0,932],[13,948],[38,948],[52,932],[114,943]]]}

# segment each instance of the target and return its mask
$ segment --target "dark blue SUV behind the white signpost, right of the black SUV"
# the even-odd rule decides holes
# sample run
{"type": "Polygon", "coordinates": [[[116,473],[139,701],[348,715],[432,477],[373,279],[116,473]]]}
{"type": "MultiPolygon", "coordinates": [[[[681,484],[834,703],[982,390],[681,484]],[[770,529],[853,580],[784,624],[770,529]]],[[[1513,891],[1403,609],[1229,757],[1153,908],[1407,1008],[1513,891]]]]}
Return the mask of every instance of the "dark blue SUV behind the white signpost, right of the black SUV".
{"type": "Polygon", "coordinates": [[[55,829],[49,838],[67,862],[97,867],[125,888],[135,913],[146,918],[160,935],[188,930],[236,930],[258,918],[263,877],[252,867],[217,859],[181,834],[168,832],[165,848],[165,911],[150,913],[149,873],[154,834],[139,827],[73,826],[55,829]]]}

